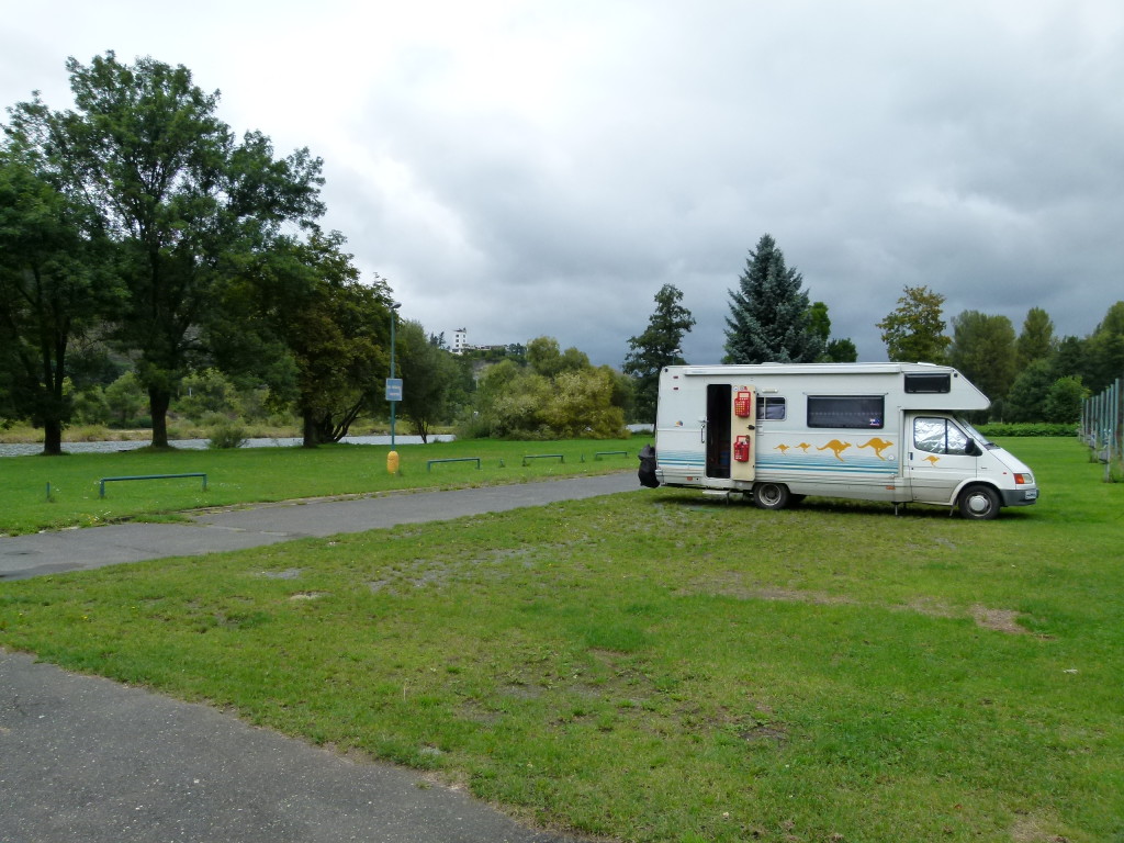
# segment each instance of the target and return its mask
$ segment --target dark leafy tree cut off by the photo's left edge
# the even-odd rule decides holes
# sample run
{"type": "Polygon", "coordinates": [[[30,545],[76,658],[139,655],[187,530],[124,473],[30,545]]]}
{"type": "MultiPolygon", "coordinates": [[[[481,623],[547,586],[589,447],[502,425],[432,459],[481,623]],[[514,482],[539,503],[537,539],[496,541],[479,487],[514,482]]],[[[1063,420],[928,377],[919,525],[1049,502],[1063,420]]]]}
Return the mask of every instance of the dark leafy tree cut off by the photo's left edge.
{"type": "Polygon", "coordinates": [[[43,427],[62,453],[70,420],[67,353],[118,301],[103,232],[35,148],[40,114],[7,127],[0,147],[0,381],[4,413],[43,427]]]}

